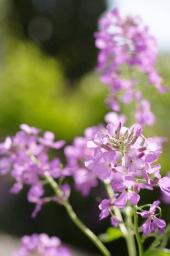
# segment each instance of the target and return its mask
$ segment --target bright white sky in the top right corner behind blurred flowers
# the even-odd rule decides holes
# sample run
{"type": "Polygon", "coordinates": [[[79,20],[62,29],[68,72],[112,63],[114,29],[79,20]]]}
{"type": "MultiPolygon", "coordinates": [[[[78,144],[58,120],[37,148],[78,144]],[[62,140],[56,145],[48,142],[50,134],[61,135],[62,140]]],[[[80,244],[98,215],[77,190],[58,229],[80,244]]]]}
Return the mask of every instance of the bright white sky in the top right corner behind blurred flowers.
{"type": "Polygon", "coordinates": [[[158,42],[170,52],[170,0],[108,0],[108,8],[118,7],[122,15],[139,15],[158,42]]]}

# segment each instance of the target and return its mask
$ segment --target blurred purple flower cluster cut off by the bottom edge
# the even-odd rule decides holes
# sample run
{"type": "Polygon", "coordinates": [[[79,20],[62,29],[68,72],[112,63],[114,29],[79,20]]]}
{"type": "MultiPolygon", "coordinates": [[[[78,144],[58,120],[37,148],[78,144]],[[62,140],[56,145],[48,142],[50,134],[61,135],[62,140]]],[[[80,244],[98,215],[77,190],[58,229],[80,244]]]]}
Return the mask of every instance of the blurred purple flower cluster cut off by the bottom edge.
{"type": "Polygon", "coordinates": [[[71,256],[67,247],[61,245],[58,237],[49,237],[47,234],[32,234],[23,236],[22,245],[19,251],[12,253],[12,256],[71,256]]]}

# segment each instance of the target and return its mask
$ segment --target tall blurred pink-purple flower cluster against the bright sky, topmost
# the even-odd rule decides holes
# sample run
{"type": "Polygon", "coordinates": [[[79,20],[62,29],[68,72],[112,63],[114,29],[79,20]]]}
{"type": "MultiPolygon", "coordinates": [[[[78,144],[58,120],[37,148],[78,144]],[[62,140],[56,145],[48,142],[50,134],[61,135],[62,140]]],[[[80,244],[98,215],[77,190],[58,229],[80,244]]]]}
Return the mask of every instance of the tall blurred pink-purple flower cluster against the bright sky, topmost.
{"type": "Polygon", "coordinates": [[[110,97],[106,99],[108,106],[117,112],[119,102],[128,104],[134,100],[137,122],[153,125],[155,117],[150,104],[136,89],[140,84],[136,72],[143,73],[148,84],[153,84],[160,93],[166,92],[163,79],[155,69],[155,38],[140,18],[122,18],[118,9],[106,13],[99,20],[99,27],[100,31],[95,33],[95,46],[99,49],[97,71],[102,72],[101,81],[110,86],[110,97]]]}

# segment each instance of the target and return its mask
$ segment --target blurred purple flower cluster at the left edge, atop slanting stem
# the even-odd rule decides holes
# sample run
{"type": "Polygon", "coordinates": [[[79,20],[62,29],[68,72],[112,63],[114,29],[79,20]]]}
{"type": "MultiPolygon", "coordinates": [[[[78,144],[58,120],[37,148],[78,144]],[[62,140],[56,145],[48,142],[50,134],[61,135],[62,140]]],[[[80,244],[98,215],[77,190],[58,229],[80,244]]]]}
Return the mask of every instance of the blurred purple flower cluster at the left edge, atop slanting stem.
{"type": "Polygon", "coordinates": [[[42,204],[49,201],[58,201],[69,197],[68,184],[60,185],[58,196],[43,197],[45,193],[46,175],[54,179],[63,179],[69,176],[69,170],[62,168],[59,158],[49,160],[49,150],[58,150],[65,145],[65,141],[54,141],[54,133],[46,131],[40,137],[39,129],[21,125],[14,137],[7,137],[4,143],[0,143],[0,174],[11,171],[11,177],[15,183],[11,193],[19,193],[24,185],[30,187],[28,201],[36,203],[32,216],[40,211],[42,204]]]}

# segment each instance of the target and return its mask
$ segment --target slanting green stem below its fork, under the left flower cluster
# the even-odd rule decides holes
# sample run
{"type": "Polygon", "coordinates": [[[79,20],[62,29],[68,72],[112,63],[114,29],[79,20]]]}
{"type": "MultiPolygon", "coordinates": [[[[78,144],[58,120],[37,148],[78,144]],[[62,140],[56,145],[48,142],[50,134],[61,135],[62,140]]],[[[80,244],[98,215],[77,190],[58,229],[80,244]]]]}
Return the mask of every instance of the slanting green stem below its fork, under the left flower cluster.
{"type": "Polygon", "coordinates": [[[81,220],[79,220],[79,218],[73,211],[73,208],[71,207],[70,203],[68,201],[66,201],[64,203],[64,206],[65,206],[65,208],[67,210],[67,214],[69,214],[69,217],[71,218],[71,220],[73,220],[73,222],[77,225],[77,227],[93,242],[93,244],[99,249],[99,251],[101,251],[102,255],[103,256],[111,256],[110,252],[103,245],[103,243],[101,243],[99,238],[97,238],[97,236],[95,236],[95,234],[93,232],[91,232],[91,230],[89,230],[89,228],[87,228],[83,224],[83,222],[81,222],[81,220]]]}

